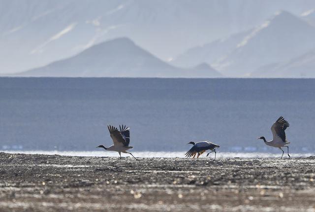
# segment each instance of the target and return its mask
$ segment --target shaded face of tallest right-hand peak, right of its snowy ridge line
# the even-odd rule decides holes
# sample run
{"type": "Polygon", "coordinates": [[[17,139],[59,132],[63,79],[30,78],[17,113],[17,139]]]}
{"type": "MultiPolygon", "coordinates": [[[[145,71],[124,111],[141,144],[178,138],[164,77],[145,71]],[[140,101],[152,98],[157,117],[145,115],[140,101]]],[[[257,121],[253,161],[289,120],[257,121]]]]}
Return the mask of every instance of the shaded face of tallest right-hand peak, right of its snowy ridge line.
{"type": "Polygon", "coordinates": [[[215,69],[228,76],[249,76],[259,67],[283,63],[315,48],[315,27],[282,11],[246,35],[215,69]]]}

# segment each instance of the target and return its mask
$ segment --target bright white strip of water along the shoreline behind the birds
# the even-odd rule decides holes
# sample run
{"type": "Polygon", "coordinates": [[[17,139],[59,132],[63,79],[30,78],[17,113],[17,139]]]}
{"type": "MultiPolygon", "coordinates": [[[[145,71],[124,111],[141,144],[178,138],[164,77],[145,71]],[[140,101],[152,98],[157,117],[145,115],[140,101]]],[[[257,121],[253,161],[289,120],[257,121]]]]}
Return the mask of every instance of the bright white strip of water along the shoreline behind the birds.
{"type": "MultiPolygon", "coordinates": [[[[64,156],[83,156],[83,157],[119,157],[118,152],[111,151],[1,151],[6,153],[22,153],[22,154],[46,154],[46,155],[64,155],[64,156]]],[[[135,157],[144,157],[144,158],[185,158],[185,151],[183,152],[152,152],[152,151],[141,151],[141,152],[132,152],[135,157]]],[[[315,154],[312,153],[290,153],[291,157],[309,157],[315,154]]],[[[122,156],[129,157],[129,154],[122,153],[122,156]]],[[[206,157],[206,153],[200,157],[206,157]]],[[[214,157],[214,154],[209,155],[210,158],[214,157]]],[[[217,152],[217,158],[280,158],[281,153],[265,153],[265,152],[217,152]]],[[[284,157],[287,157],[284,154],[284,157]]]]}

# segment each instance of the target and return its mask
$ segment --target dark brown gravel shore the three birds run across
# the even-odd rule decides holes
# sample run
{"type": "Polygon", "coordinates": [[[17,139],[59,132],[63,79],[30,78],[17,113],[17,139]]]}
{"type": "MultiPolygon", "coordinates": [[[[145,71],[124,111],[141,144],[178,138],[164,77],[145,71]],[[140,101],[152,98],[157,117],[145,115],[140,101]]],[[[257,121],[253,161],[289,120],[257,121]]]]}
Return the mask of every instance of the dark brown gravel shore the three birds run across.
{"type": "Polygon", "coordinates": [[[0,153],[0,211],[315,212],[315,157],[117,159],[0,153]]]}

